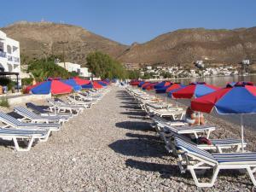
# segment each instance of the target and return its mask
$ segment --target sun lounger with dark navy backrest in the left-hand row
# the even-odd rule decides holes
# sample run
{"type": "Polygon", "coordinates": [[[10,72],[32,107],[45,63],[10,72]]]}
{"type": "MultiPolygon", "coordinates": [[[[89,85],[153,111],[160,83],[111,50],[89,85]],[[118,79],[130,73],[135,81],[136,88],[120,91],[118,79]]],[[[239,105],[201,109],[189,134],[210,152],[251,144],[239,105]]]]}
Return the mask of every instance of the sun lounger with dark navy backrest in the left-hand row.
{"type": "Polygon", "coordinates": [[[63,117],[67,119],[70,119],[73,117],[73,115],[70,113],[50,113],[49,109],[47,110],[47,109],[41,108],[40,106],[37,106],[32,102],[26,102],[26,108],[31,108],[34,113],[37,113],[42,116],[58,116],[58,117],[63,117]]]}

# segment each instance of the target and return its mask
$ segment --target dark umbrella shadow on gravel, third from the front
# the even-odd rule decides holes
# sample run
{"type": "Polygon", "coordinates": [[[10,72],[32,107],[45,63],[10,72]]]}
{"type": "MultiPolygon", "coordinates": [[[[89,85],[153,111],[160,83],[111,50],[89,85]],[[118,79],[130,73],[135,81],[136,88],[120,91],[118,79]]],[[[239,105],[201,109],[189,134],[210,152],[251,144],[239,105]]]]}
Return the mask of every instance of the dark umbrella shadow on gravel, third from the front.
{"type": "Polygon", "coordinates": [[[115,126],[132,131],[154,131],[148,122],[123,121],[116,123],[115,126]]]}

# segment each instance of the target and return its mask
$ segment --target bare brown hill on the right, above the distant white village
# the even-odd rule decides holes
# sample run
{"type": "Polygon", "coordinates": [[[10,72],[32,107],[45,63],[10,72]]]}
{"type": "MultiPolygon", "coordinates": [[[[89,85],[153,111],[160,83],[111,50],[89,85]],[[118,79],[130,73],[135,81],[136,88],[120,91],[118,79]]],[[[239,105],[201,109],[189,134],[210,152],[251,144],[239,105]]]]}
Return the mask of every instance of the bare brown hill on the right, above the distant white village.
{"type": "Polygon", "coordinates": [[[236,30],[183,29],[168,32],[145,44],[133,44],[119,56],[129,63],[234,63],[256,59],[256,27],[236,30]]]}

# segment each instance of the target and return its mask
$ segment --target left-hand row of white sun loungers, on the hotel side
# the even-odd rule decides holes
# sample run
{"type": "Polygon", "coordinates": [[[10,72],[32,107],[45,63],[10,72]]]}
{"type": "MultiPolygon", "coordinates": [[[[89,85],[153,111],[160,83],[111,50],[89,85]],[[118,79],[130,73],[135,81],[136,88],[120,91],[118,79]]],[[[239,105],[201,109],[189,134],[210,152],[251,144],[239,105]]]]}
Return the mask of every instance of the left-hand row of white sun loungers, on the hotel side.
{"type": "Polygon", "coordinates": [[[64,102],[61,99],[49,99],[48,108],[42,108],[28,102],[26,108],[21,106],[14,108],[14,112],[18,113],[22,117],[21,119],[0,112],[0,121],[3,124],[0,127],[0,138],[13,141],[17,151],[29,151],[34,143],[48,141],[52,131],[60,131],[62,124],[79,115],[84,109],[90,109],[96,104],[93,101],[101,100],[107,92],[106,89],[90,91],[86,95],[81,93],[84,100],[88,97],[86,102],[70,96],[67,98],[72,98],[72,102],[71,100],[64,102]],[[24,144],[20,145],[21,142],[25,143],[25,147],[23,147],[24,144]]]}

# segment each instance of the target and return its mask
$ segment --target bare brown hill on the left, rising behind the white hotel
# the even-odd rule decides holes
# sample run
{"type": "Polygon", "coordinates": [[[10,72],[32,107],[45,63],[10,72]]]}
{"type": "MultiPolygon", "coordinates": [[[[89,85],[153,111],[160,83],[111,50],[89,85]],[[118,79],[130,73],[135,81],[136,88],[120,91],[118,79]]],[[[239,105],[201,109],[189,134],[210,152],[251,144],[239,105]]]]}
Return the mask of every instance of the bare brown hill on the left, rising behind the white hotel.
{"type": "Polygon", "coordinates": [[[126,45],[103,38],[79,26],[51,22],[21,21],[0,29],[10,38],[20,41],[20,53],[29,57],[62,55],[62,44],[67,42],[66,61],[85,63],[85,57],[94,50],[101,50],[114,57],[121,54],[126,45]]]}

